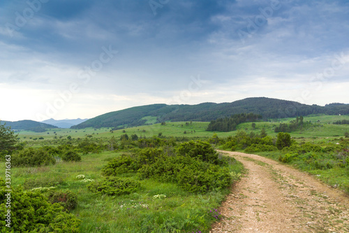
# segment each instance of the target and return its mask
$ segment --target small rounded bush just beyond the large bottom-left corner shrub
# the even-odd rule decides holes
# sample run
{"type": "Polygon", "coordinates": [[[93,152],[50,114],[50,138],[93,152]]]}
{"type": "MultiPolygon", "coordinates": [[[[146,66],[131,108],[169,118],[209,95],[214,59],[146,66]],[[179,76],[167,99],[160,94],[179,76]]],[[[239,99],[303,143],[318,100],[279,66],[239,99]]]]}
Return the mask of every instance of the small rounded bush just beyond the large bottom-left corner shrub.
{"type": "Polygon", "coordinates": [[[47,197],[52,204],[58,203],[66,211],[71,211],[77,206],[77,195],[69,190],[50,191],[47,197]]]}

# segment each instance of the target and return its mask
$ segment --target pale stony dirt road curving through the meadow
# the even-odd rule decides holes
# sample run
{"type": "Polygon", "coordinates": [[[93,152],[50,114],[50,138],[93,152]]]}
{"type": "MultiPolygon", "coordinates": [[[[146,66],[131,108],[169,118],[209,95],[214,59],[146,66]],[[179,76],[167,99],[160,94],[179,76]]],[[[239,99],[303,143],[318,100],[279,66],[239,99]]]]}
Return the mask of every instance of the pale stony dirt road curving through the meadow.
{"type": "Polygon", "coordinates": [[[349,232],[349,197],[285,164],[228,153],[248,174],[221,206],[211,232],[349,232]]]}

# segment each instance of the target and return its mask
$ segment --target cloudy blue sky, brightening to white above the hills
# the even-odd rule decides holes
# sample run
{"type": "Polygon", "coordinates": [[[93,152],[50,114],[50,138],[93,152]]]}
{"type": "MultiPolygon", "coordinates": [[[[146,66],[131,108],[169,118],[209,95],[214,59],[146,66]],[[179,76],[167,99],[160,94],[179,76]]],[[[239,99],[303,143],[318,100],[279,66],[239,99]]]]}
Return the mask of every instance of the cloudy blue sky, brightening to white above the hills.
{"type": "Polygon", "coordinates": [[[0,120],[269,97],[349,104],[349,1],[0,1],[0,120]]]}

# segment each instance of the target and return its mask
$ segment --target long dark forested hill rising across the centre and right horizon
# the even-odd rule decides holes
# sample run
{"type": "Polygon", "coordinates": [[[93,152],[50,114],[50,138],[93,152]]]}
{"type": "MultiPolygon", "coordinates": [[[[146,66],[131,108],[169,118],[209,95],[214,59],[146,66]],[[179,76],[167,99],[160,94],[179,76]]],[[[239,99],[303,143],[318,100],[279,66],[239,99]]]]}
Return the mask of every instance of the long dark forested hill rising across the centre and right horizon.
{"type": "Polygon", "coordinates": [[[132,127],[146,125],[149,118],[154,122],[163,121],[205,121],[230,117],[239,113],[255,113],[267,118],[291,118],[299,115],[349,114],[348,104],[328,104],[326,106],[299,104],[295,101],[256,97],[232,103],[197,105],[152,104],[105,113],[96,118],[75,125],[73,129],[86,127],[132,127]]]}

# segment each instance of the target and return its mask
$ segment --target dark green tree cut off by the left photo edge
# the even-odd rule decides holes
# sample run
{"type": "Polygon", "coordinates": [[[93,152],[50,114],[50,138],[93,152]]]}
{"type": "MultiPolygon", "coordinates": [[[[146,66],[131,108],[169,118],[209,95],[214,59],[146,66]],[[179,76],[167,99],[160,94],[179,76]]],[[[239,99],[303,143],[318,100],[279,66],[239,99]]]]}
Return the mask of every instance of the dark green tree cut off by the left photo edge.
{"type": "Polygon", "coordinates": [[[0,122],[0,155],[11,153],[15,149],[16,142],[15,132],[11,130],[11,127],[7,127],[6,123],[2,125],[0,122]]]}

